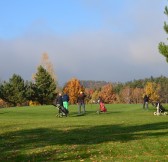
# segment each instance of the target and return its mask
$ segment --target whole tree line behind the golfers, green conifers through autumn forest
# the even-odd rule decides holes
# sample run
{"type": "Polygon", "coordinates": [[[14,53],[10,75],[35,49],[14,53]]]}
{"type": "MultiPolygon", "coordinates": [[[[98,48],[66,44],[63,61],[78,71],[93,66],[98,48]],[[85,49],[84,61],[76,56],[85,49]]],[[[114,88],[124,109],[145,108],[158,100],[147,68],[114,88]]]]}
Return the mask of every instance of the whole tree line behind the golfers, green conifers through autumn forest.
{"type": "Polygon", "coordinates": [[[145,94],[150,96],[151,102],[167,103],[168,78],[150,77],[125,83],[72,78],[63,87],[58,87],[57,81],[40,65],[32,81],[24,81],[21,76],[13,74],[9,81],[0,83],[0,106],[48,105],[60,91],[69,95],[70,104],[76,104],[80,91],[87,95],[86,103],[97,103],[99,97],[107,104],[142,103],[145,94]]]}

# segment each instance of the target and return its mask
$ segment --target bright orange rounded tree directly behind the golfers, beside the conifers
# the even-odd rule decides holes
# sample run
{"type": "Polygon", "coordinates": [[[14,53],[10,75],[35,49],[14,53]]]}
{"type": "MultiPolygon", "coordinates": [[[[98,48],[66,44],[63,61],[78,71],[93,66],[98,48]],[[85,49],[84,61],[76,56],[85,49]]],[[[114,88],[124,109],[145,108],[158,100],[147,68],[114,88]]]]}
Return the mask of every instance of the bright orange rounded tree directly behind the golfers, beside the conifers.
{"type": "Polygon", "coordinates": [[[72,78],[71,80],[69,80],[63,88],[63,92],[69,95],[69,102],[71,104],[76,103],[80,91],[84,92],[84,87],[76,78],[72,78]]]}

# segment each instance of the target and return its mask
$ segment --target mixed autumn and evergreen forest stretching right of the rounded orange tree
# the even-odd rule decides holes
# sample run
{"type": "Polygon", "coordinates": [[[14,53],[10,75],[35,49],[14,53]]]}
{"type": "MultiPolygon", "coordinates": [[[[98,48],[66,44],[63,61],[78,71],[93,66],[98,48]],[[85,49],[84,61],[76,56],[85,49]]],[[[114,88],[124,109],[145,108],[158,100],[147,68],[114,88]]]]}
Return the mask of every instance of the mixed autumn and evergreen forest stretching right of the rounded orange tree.
{"type": "Polygon", "coordinates": [[[90,99],[95,102],[98,96],[104,96],[103,98],[107,103],[142,103],[143,96],[148,94],[151,102],[168,103],[168,78],[165,76],[151,76],[125,83],[93,80],[81,80],[80,82],[86,90],[91,91],[92,97],[90,99]],[[101,93],[102,91],[104,93],[101,93]],[[108,96],[113,97],[110,99],[108,96]]]}

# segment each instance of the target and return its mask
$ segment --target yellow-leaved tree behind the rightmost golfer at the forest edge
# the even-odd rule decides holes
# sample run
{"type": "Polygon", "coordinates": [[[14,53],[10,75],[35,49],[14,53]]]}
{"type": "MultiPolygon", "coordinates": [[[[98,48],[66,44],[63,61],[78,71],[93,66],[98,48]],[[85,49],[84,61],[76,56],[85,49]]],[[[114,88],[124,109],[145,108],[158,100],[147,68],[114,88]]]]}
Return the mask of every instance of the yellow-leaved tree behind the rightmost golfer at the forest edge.
{"type": "Polygon", "coordinates": [[[147,82],[144,87],[144,95],[148,95],[150,102],[160,101],[160,85],[154,82],[147,82]]]}

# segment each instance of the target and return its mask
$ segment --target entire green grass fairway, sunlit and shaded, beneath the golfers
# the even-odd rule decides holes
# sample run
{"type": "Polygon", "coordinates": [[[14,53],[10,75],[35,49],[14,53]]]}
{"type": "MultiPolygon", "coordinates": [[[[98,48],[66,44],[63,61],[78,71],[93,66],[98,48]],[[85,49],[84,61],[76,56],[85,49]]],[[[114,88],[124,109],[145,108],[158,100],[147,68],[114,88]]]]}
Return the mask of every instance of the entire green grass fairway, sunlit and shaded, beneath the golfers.
{"type": "Polygon", "coordinates": [[[98,115],[98,105],[86,105],[78,116],[71,105],[63,118],[54,106],[0,109],[0,161],[168,161],[168,115],[154,116],[151,105],[106,107],[98,115]]]}

